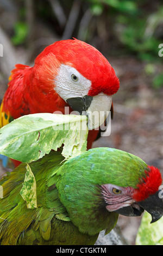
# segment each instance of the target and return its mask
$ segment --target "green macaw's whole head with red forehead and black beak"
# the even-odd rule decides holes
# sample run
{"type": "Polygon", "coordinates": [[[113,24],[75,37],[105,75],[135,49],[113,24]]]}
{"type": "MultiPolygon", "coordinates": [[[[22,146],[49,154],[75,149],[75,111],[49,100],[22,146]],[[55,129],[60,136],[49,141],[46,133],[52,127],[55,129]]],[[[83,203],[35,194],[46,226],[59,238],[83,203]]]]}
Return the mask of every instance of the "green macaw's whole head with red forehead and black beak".
{"type": "Polygon", "coordinates": [[[140,216],[146,210],[152,222],[163,215],[159,169],[122,150],[90,149],[66,161],[57,175],[59,198],[83,233],[109,233],[118,214],[140,216]]]}

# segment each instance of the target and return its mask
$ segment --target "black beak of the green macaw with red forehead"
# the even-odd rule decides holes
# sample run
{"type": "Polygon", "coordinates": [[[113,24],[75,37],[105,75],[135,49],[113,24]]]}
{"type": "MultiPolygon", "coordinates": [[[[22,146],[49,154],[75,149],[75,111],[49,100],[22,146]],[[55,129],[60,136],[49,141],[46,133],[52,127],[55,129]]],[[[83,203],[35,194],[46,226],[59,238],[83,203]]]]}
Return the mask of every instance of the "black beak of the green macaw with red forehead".
{"type": "Polygon", "coordinates": [[[159,197],[160,192],[161,190],[152,194],[143,201],[123,207],[115,212],[125,216],[140,216],[142,212],[146,210],[152,216],[151,223],[158,221],[163,215],[163,201],[162,198],[159,197]]]}

